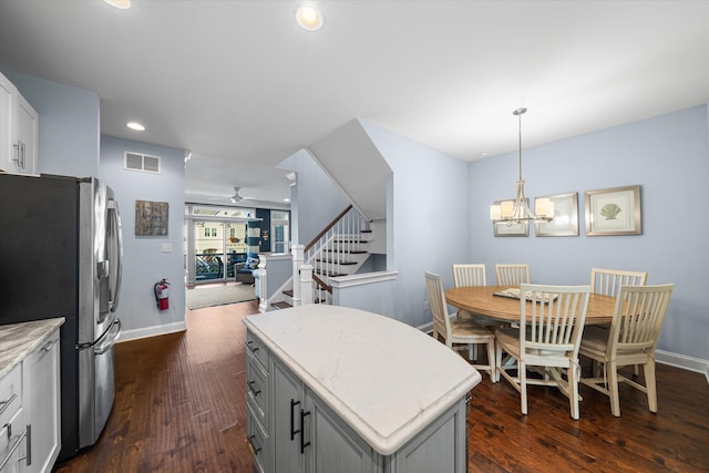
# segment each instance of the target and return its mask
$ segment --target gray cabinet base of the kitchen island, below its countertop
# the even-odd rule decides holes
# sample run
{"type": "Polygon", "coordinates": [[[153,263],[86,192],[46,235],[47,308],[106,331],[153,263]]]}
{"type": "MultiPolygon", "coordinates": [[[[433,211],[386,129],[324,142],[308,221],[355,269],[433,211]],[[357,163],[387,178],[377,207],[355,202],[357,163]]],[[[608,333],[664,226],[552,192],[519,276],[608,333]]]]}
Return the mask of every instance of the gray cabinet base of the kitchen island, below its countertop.
{"type": "MultiPolygon", "coordinates": [[[[266,473],[460,473],[466,471],[466,401],[461,399],[390,455],[374,451],[264,343],[247,335],[248,440],[266,473]],[[257,361],[256,352],[268,360],[257,361]],[[266,390],[258,389],[265,376],[266,390]],[[255,394],[258,392],[257,394],[255,394]],[[266,393],[264,415],[255,399],[266,393]],[[259,419],[268,419],[264,424],[259,419]]],[[[373,389],[373,388],[372,388],[373,389]]]]}

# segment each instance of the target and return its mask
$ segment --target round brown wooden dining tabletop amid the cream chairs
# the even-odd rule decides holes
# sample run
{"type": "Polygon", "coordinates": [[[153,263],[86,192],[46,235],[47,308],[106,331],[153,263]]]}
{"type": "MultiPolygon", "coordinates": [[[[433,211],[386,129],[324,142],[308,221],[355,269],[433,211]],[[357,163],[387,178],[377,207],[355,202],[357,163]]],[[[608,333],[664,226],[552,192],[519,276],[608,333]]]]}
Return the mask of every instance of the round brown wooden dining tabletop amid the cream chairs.
{"type": "MultiPolygon", "coordinates": [[[[494,296],[510,286],[456,287],[445,291],[445,301],[459,309],[508,322],[520,321],[520,299],[494,296]]],[[[527,302],[531,304],[531,302],[527,302]]],[[[608,323],[613,319],[616,298],[592,294],[588,298],[586,323],[608,323]]]]}

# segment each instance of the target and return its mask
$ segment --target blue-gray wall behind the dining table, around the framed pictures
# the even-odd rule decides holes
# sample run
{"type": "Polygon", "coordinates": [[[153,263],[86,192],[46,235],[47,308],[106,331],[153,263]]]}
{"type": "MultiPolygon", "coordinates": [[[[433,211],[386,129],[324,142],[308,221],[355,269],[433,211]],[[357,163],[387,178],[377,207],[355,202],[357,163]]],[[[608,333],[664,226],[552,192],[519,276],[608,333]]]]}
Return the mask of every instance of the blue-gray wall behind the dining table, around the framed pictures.
{"type": "Polygon", "coordinates": [[[528,238],[495,238],[489,206],[514,196],[517,155],[471,163],[467,259],[487,265],[489,281],[495,263],[528,263],[532,281],[544,284],[588,284],[592,267],[648,271],[648,284],[675,284],[658,348],[709,359],[707,123],[701,105],[524,150],[531,202],[578,192],[578,237],[535,237],[532,229],[528,238]],[[643,235],[585,236],[584,192],[636,184],[643,235]]]}

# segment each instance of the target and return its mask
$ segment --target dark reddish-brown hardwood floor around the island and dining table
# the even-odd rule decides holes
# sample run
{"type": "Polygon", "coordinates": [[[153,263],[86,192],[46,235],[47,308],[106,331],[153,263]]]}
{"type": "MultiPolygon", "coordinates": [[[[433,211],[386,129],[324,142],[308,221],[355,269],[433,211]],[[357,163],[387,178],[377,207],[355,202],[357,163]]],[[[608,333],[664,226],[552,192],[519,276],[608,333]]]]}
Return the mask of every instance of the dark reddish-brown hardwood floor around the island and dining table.
{"type": "MultiPolygon", "coordinates": [[[[54,471],[250,473],[240,320],[256,311],[256,301],[188,310],[184,333],[119,343],[105,431],[54,471]]],[[[709,471],[706,378],[659,364],[657,379],[657,414],[640,392],[621,385],[621,417],[614,418],[608,399],[582,385],[582,419],[574,421],[567,399],[543,387],[530,388],[530,414],[522,415],[517,392],[485,374],[472,391],[469,470],[709,471]]]]}

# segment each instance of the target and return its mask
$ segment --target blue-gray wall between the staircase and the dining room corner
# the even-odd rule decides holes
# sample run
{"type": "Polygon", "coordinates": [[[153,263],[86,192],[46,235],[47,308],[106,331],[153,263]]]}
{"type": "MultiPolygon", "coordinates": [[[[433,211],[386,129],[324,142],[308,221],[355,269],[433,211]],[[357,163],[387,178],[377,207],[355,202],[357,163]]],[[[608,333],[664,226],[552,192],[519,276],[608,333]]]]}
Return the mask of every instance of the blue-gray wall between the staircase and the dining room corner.
{"type": "Polygon", "coordinates": [[[381,300],[382,313],[418,327],[431,321],[423,271],[452,286],[451,265],[467,256],[467,163],[371,123],[362,126],[392,169],[387,267],[399,271],[395,282],[384,285],[387,292],[373,298],[391,299],[381,300]]]}

